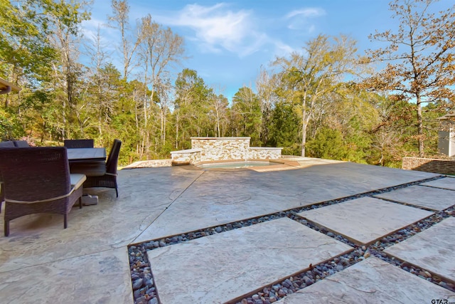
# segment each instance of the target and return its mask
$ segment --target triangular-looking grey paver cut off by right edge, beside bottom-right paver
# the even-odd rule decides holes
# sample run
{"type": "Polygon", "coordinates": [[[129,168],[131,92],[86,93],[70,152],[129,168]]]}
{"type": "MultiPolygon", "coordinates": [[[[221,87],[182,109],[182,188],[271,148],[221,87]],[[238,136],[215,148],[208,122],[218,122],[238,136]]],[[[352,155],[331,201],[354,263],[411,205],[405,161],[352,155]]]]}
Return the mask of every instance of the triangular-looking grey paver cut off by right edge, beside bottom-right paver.
{"type": "Polygon", "coordinates": [[[455,281],[455,218],[444,219],[385,252],[455,281]]]}

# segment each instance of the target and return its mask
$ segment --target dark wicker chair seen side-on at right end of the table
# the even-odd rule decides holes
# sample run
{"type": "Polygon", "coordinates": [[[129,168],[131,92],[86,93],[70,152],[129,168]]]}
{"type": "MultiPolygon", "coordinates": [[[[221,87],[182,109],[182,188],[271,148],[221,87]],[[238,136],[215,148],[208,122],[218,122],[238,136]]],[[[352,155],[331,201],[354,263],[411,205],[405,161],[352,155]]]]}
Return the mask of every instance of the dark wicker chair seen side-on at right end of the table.
{"type": "Polygon", "coordinates": [[[84,188],[114,188],[115,194],[119,197],[117,190],[117,162],[119,160],[121,146],[121,141],[114,140],[106,161],[106,173],[101,176],[87,176],[87,180],[84,182],[84,188]]]}

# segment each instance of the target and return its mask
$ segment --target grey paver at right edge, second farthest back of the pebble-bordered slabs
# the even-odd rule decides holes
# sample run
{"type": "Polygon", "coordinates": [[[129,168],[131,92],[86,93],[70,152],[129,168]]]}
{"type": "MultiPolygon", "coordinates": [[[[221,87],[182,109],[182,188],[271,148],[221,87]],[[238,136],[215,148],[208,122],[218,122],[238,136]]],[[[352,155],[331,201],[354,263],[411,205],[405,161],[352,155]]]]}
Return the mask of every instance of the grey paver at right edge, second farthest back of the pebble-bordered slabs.
{"type": "Polygon", "coordinates": [[[400,201],[432,210],[444,210],[455,205],[455,192],[424,186],[410,186],[375,195],[382,199],[400,201]]]}

